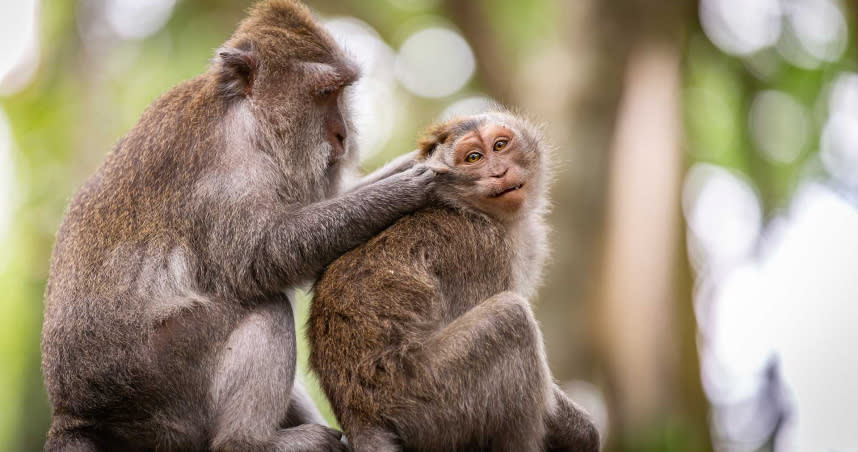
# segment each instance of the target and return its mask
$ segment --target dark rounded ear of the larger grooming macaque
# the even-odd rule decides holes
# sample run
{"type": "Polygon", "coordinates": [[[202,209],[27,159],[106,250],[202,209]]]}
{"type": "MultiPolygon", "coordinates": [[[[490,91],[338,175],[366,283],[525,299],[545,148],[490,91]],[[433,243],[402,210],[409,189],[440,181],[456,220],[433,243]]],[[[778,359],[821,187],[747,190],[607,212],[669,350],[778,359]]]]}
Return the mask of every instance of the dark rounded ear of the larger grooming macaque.
{"type": "Polygon", "coordinates": [[[259,58],[251,41],[219,48],[214,63],[222,95],[227,98],[250,96],[259,70],[259,58]]]}

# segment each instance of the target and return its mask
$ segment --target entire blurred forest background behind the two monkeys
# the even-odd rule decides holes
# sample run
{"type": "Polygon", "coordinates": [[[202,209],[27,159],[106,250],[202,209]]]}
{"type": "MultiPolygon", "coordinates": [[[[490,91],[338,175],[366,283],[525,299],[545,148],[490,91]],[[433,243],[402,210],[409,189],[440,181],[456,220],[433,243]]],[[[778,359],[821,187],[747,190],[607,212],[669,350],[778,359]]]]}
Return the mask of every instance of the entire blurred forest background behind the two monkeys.
{"type": "MultiPolygon", "coordinates": [[[[66,202],[248,4],[0,4],[0,450],[47,430],[42,294],[66,202]]],[[[364,68],[365,169],[493,101],[545,124],[559,171],[536,312],[606,450],[858,450],[858,1],[309,4],[364,68]]]]}

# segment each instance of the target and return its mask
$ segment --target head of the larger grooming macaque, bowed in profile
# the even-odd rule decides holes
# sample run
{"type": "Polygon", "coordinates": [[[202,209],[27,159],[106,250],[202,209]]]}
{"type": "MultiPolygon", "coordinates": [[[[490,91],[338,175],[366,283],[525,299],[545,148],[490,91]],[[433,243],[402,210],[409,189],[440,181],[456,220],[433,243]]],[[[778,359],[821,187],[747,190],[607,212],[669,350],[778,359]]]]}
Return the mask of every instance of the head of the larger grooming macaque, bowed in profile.
{"type": "Polygon", "coordinates": [[[305,201],[337,191],[343,169],[357,163],[349,86],[359,71],[304,5],[257,3],[212,71],[231,120],[302,185],[305,201]]]}

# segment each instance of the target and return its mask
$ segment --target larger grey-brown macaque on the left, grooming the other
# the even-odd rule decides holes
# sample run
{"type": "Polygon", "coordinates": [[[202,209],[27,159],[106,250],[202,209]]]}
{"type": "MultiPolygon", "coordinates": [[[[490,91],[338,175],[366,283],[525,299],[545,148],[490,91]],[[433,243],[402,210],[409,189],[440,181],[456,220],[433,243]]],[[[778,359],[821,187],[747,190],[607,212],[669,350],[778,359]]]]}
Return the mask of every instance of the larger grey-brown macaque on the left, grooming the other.
{"type": "Polygon", "coordinates": [[[337,196],[357,77],[304,6],[265,1],[120,140],[57,234],[46,450],[345,450],[293,386],[289,289],[434,180],[400,161],[337,196]]]}

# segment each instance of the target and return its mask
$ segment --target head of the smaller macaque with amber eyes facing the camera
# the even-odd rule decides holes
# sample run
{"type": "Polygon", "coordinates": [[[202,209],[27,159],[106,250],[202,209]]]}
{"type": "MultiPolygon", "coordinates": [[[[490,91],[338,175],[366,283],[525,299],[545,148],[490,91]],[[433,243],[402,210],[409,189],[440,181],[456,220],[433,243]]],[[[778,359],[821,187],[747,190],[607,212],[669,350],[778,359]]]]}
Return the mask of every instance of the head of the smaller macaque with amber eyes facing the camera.
{"type": "Polygon", "coordinates": [[[537,129],[523,118],[492,112],[451,119],[428,130],[419,153],[448,175],[437,188],[447,203],[502,220],[544,204],[545,152],[537,129]]]}

